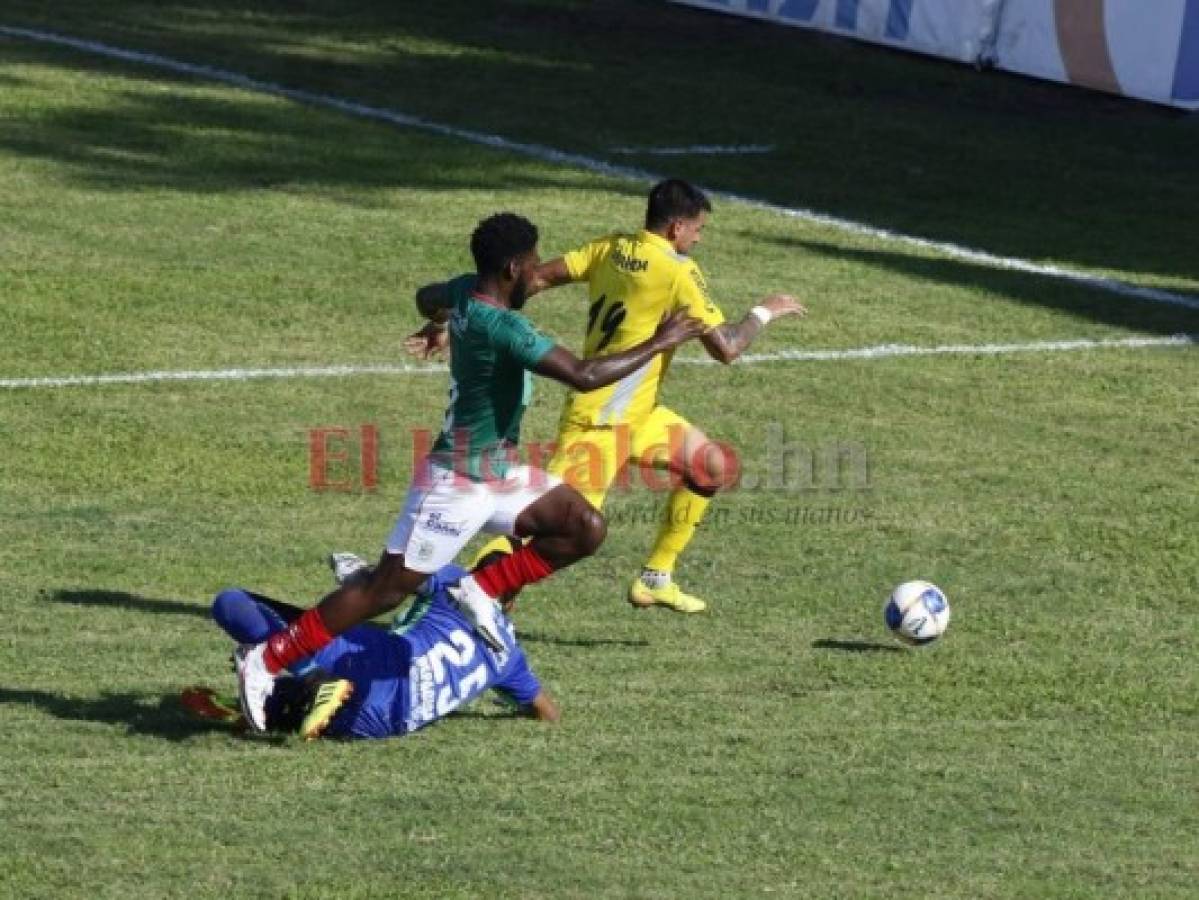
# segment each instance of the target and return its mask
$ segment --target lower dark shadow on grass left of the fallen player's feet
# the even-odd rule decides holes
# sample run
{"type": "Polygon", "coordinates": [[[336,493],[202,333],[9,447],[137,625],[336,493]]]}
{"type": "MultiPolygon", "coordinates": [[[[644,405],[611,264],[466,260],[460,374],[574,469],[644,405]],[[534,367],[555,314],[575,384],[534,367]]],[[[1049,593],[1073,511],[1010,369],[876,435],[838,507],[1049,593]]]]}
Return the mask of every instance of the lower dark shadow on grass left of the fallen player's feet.
{"type": "Polygon", "coordinates": [[[97,721],[123,725],[128,736],[145,735],[167,741],[187,741],[212,732],[229,733],[219,721],[189,717],[179,703],[179,695],[103,693],[96,697],[71,697],[48,690],[0,688],[0,706],[36,706],[48,715],[72,721],[97,721]]]}

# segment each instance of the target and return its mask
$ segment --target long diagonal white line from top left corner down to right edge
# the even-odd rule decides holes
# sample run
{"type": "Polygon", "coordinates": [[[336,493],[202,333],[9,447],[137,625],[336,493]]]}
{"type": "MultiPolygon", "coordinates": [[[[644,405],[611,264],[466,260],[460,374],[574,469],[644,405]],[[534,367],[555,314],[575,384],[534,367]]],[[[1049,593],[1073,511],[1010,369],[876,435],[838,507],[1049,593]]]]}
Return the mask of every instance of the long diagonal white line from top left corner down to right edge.
{"type": "MultiPolygon", "coordinates": [[[[163,70],[169,70],[171,72],[179,72],[182,74],[193,75],[195,78],[221,81],[223,84],[234,85],[248,91],[285,97],[288,99],[293,99],[299,103],[336,109],[342,113],[360,116],[363,119],[373,119],[376,121],[384,121],[384,122],[390,122],[392,125],[398,125],[404,128],[415,128],[424,132],[430,132],[433,134],[440,134],[442,137],[456,138],[458,140],[470,141],[474,144],[481,144],[483,146],[494,147],[496,150],[504,150],[511,153],[519,153],[523,156],[532,157],[535,159],[540,159],[542,162],[573,167],[577,169],[584,169],[586,171],[594,171],[601,175],[608,175],[616,179],[625,179],[625,180],[641,181],[641,182],[655,182],[659,181],[662,177],[661,175],[646,171],[645,169],[637,169],[627,165],[616,165],[614,163],[607,163],[602,159],[583,156],[580,153],[571,153],[564,150],[556,150],[554,147],[543,146],[541,144],[528,144],[524,141],[508,140],[507,138],[504,138],[499,134],[490,134],[488,132],[477,132],[477,131],[471,131],[469,128],[458,128],[452,125],[433,122],[427,119],[408,115],[405,113],[399,113],[397,110],[384,109],[380,107],[370,107],[364,103],[356,103],[354,101],[343,99],[341,97],[333,97],[326,93],[315,93],[313,91],[305,91],[295,87],[285,87],[283,85],[275,84],[272,81],[263,81],[257,78],[251,78],[249,75],[243,75],[237,72],[230,72],[228,70],[216,68],[212,66],[200,66],[192,62],[183,62],[181,60],[170,59],[169,56],[162,56],[156,53],[128,50],[128,49],[122,49],[120,47],[112,47],[109,44],[100,43],[98,41],[85,41],[77,37],[58,35],[49,31],[38,31],[26,28],[13,28],[8,25],[0,25],[0,35],[6,35],[8,37],[14,37],[14,38],[24,38],[28,41],[38,41],[42,43],[58,44],[60,47],[70,47],[76,50],[82,50],[84,53],[91,53],[100,56],[107,56],[109,59],[118,59],[127,62],[153,66],[156,68],[163,68],[163,70]]],[[[1109,294],[1116,294],[1122,297],[1131,297],[1134,300],[1146,300],[1157,303],[1169,303],[1171,306],[1186,307],[1187,309],[1199,309],[1199,297],[1191,295],[1174,294],[1173,291],[1167,291],[1158,288],[1145,288],[1141,285],[1120,280],[1117,278],[1107,278],[1103,276],[1087,274],[1085,272],[1077,272],[1070,268],[1042,265],[1040,262],[1032,262],[1030,260],[1018,259],[1014,256],[999,256],[993,253],[987,253],[986,250],[963,247],[956,243],[950,243],[945,241],[932,241],[923,237],[905,235],[899,231],[891,231],[885,228],[875,228],[873,225],[867,225],[861,222],[854,222],[852,219],[840,218],[839,216],[830,216],[827,213],[819,212],[817,210],[808,210],[803,207],[793,207],[793,206],[779,206],[777,204],[766,203],[765,200],[758,200],[752,197],[743,197],[740,194],[733,194],[724,191],[709,191],[709,193],[723,200],[737,204],[745,204],[755,209],[766,210],[782,216],[801,219],[803,222],[826,225],[829,228],[835,228],[840,231],[873,237],[880,241],[904,243],[908,244],[909,247],[918,247],[924,250],[932,250],[934,253],[939,253],[944,256],[964,259],[971,262],[977,262],[980,265],[990,266],[993,268],[1008,268],[1018,272],[1028,272],[1030,274],[1043,276],[1046,278],[1055,278],[1059,280],[1070,282],[1072,284],[1078,284],[1086,288],[1093,288],[1095,290],[1107,291],[1109,294]]]]}

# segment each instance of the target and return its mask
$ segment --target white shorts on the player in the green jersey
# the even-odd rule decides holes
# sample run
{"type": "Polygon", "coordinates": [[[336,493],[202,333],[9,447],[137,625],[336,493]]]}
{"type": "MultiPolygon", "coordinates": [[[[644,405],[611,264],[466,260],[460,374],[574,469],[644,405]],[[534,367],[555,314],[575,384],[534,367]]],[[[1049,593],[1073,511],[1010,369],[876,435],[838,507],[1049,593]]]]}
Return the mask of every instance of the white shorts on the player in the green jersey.
{"type": "Polygon", "coordinates": [[[387,552],[403,554],[412,572],[436,572],[480,531],[513,534],[517,517],[561,483],[541,469],[516,466],[502,482],[484,484],[422,460],[387,536],[387,552]]]}

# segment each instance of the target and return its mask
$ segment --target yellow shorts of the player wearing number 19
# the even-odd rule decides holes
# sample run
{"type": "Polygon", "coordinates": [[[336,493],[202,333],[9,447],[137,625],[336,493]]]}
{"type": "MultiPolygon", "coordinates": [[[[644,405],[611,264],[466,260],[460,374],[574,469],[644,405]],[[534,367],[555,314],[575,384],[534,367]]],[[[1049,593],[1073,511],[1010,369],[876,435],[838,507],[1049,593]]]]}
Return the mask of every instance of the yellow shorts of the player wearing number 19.
{"type": "Polygon", "coordinates": [[[615,425],[585,425],[564,422],[558,446],[546,471],[561,478],[588,499],[596,509],[603,507],[613,482],[629,489],[634,478],[651,490],[671,487],[671,460],[682,459],[683,436],[691,423],[665,406],[655,406],[639,422],[615,425]]]}

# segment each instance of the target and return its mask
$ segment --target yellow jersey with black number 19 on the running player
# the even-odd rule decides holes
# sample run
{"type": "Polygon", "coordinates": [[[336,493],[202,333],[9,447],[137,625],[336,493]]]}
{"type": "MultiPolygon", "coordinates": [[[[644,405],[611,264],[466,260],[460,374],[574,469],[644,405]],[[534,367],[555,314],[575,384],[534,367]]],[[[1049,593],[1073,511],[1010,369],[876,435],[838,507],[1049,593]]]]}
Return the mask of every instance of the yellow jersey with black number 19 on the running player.
{"type": "MultiPolygon", "coordinates": [[[[565,254],[562,260],[571,278],[586,280],[589,288],[585,358],[640,344],[675,309],[710,326],[724,321],[707,296],[699,266],[652,231],[608,235],[565,254]]],[[[562,424],[595,427],[641,421],[657,403],[658,385],[673,355],[658,354],[615,385],[572,393],[562,411],[562,424]]]]}

